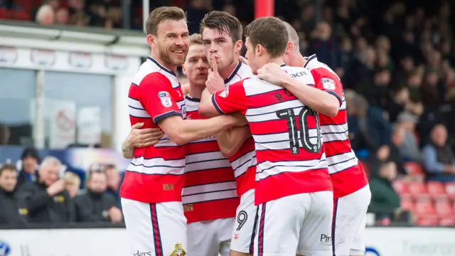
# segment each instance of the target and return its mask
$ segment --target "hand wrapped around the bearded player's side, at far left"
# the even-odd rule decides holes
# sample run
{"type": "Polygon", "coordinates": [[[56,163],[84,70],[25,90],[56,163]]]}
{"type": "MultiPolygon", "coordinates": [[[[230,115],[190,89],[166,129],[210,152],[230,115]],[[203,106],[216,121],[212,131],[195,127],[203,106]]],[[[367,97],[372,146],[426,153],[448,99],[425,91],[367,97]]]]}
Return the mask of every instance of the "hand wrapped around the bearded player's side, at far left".
{"type": "Polygon", "coordinates": [[[130,146],[136,148],[153,146],[163,137],[163,131],[159,128],[141,129],[142,127],[144,127],[144,123],[137,123],[131,127],[131,132],[127,137],[130,146]]]}

